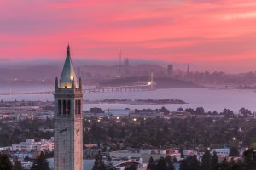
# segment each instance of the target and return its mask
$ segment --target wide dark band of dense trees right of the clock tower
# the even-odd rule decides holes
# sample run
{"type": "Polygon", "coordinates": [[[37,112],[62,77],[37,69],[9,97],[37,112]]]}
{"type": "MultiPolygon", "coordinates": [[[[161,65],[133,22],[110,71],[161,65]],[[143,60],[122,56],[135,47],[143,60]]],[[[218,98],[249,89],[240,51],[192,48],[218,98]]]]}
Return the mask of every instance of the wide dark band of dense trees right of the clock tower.
{"type": "MultiPolygon", "coordinates": [[[[199,110],[200,111],[200,110],[199,110]]],[[[256,121],[241,117],[161,118],[112,117],[84,121],[84,143],[99,143],[118,149],[119,142],[128,147],[183,146],[184,148],[221,148],[230,143],[249,146],[256,141],[256,121]],[[233,138],[236,141],[232,141],[233,138]]]]}

